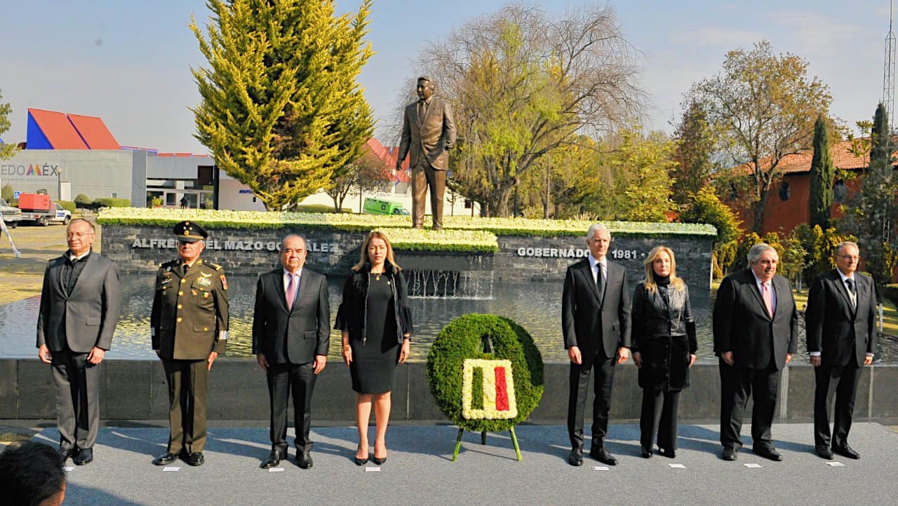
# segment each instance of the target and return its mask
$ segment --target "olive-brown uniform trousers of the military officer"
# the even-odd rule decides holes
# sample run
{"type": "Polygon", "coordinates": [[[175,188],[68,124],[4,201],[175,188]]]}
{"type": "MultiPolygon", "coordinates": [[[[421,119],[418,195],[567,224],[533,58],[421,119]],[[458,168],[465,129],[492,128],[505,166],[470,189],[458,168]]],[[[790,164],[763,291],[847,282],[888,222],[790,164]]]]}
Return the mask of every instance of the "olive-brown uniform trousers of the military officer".
{"type": "Polygon", "coordinates": [[[169,453],[199,453],[206,447],[205,360],[163,359],[169,386],[169,453]]]}

